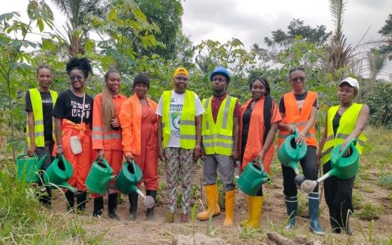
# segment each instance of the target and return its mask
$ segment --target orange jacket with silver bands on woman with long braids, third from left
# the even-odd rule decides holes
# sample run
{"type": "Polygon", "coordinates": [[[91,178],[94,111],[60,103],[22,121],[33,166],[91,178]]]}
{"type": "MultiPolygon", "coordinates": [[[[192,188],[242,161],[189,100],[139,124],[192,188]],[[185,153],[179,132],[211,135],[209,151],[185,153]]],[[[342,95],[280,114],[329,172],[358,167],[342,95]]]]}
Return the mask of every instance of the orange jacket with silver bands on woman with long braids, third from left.
{"type": "MultiPolygon", "coordinates": [[[[118,94],[116,97],[112,97],[112,99],[116,109],[115,117],[118,118],[121,106],[127,97],[123,94],[118,94]]],[[[94,106],[92,107],[92,149],[123,151],[121,130],[104,131],[104,122],[102,121],[102,94],[97,94],[94,97],[94,106]]]]}

